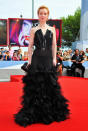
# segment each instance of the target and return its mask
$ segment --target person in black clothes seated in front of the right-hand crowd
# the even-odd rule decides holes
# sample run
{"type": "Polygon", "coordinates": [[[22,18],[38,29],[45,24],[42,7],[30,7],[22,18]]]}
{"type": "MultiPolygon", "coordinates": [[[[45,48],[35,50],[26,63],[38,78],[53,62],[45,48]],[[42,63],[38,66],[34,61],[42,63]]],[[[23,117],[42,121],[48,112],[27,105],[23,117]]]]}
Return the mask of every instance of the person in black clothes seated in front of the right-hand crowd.
{"type": "Polygon", "coordinates": [[[72,56],[71,61],[73,64],[71,65],[72,74],[75,76],[75,69],[79,68],[82,70],[82,77],[84,77],[85,67],[82,65],[84,62],[84,58],[79,54],[79,50],[75,50],[75,54],[72,56]]]}

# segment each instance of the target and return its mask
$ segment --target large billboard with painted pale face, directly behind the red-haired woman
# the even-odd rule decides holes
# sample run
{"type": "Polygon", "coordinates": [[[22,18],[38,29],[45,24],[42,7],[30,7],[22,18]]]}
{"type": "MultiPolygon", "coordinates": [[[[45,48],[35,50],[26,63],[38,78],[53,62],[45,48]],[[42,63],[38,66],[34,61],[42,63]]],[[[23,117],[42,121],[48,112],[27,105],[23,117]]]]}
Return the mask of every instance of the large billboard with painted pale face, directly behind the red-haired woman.
{"type": "MultiPolygon", "coordinates": [[[[11,46],[28,46],[30,29],[38,25],[37,19],[9,18],[9,44],[11,46]]],[[[48,20],[47,24],[55,27],[57,46],[61,47],[62,21],[48,20]]]]}

